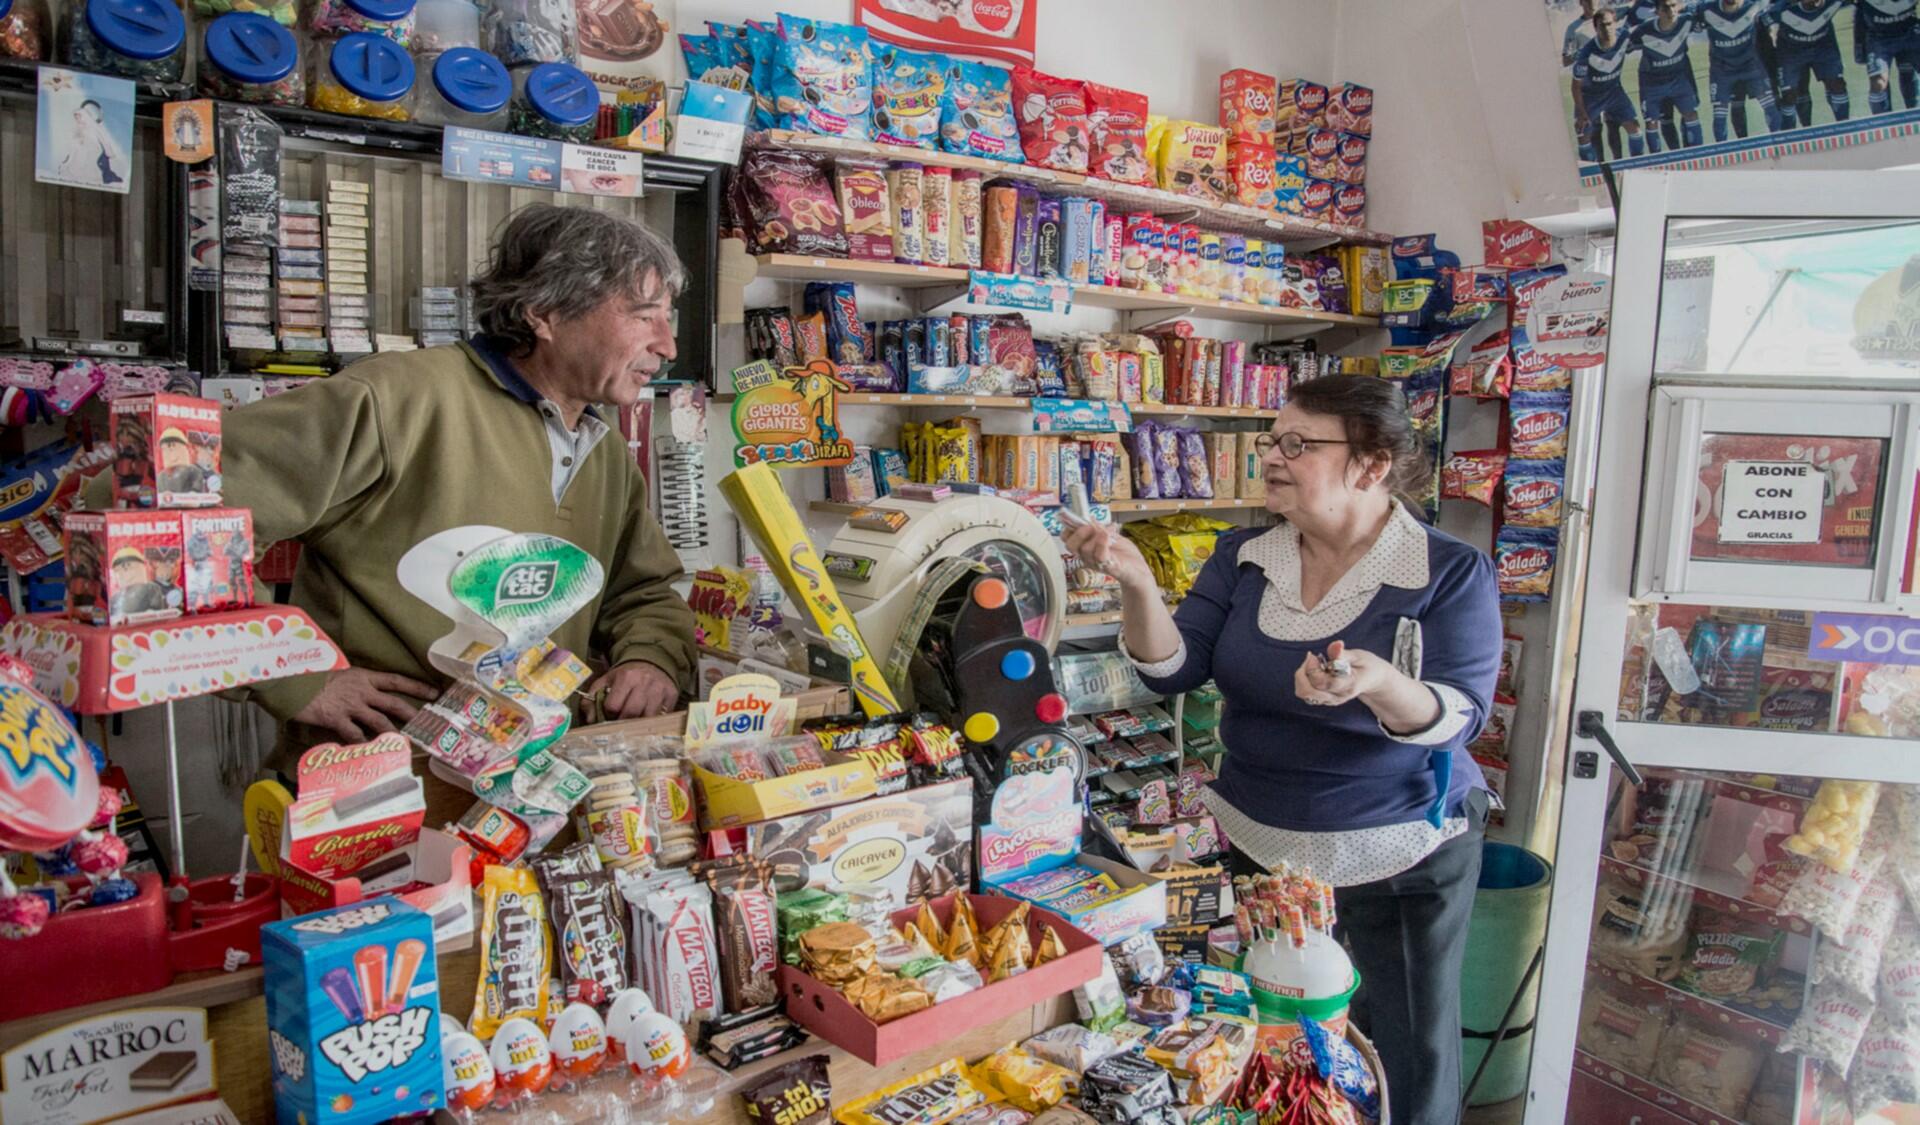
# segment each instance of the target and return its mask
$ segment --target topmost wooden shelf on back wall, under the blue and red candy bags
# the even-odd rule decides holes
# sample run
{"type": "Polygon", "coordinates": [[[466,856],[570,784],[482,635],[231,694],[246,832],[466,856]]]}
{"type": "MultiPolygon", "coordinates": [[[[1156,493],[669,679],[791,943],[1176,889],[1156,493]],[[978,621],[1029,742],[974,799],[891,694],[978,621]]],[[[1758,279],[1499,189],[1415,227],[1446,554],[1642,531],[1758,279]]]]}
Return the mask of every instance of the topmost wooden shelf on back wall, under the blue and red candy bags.
{"type": "Polygon", "coordinates": [[[826,152],[833,156],[914,159],[939,167],[975,169],[987,175],[989,179],[1041,184],[1056,188],[1060,192],[1104,200],[1108,205],[1125,207],[1129,211],[1154,211],[1165,215],[1179,215],[1183,221],[1200,223],[1208,230],[1250,234],[1254,238],[1263,238],[1263,240],[1271,238],[1277,242],[1284,242],[1288,246],[1306,246],[1306,244],[1327,246],[1331,242],[1359,242],[1365,246],[1386,246],[1388,242],[1394,240],[1392,234],[1384,234],[1380,230],[1369,230],[1365,227],[1338,227],[1334,223],[1319,223],[1313,219],[1302,219],[1298,215],[1261,211],[1258,207],[1244,207],[1240,203],[1213,203],[1208,200],[1196,200],[1192,196],[1177,196],[1173,192],[1164,192],[1160,188],[1117,184],[1114,180],[1102,180],[1098,177],[1056,173],[1052,169],[1033,167],[1025,163],[1006,163],[998,159],[954,156],[947,152],[931,152],[925,148],[866,144],[858,140],[845,140],[839,136],[816,136],[812,132],[793,132],[785,129],[772,129],[762,132],[760,136],[780,148],[826,152]]]}

